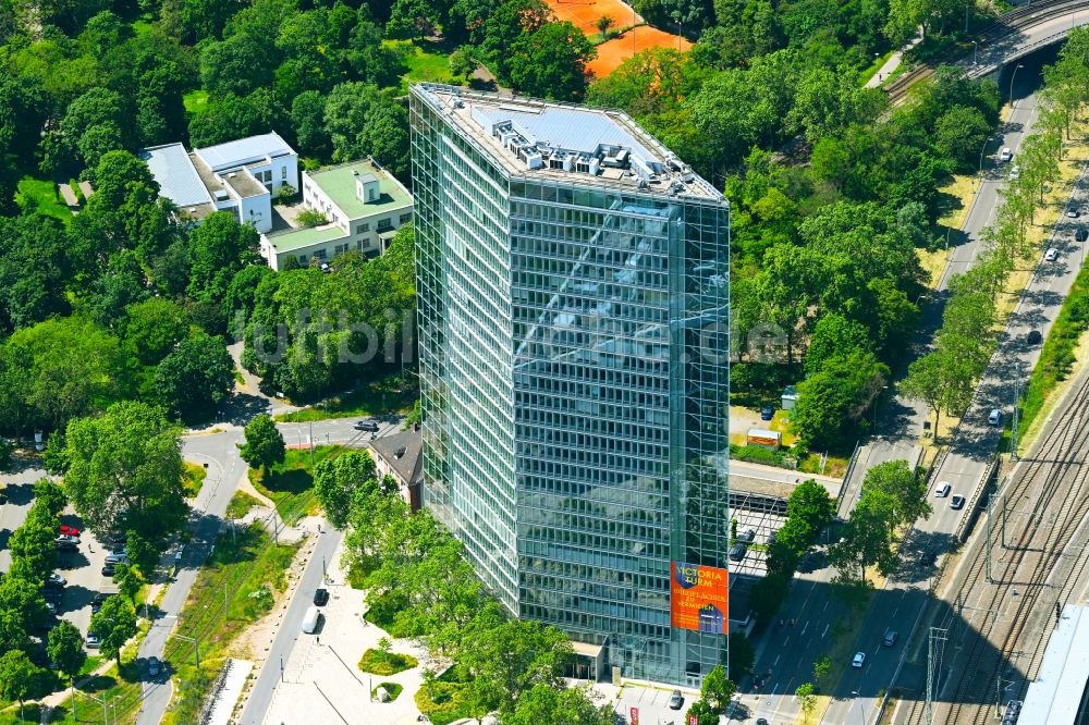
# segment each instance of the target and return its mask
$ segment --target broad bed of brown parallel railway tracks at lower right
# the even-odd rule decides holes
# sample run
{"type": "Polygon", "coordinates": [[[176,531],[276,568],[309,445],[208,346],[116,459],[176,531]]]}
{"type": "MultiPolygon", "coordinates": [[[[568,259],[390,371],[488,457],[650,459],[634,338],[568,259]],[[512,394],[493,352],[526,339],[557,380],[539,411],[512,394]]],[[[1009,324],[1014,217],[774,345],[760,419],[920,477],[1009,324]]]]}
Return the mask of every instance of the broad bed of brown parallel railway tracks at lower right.
{"type": "MultiPolygon", "coordinates": [[[[984,611],[975,631],[967,632],[967,659],[957,663],[955,677],[945,689],[955,685],[955,693],[947,703],[934,708],[934,722],[946,724],[993,723],[994,705],[989,695],[1003,676],[1006,663],[1015,654],[1028,655],[1018,662],[1024,676],[1017,692],[1035,675],[1044,650],[1047,635],[1053,626],[1053,605],[1064,603],[1070,590],[1086,574],[1089,558],[1070,557],[1064,549],[1070,543],[1080,525],[1089,516],[1089,374],[1082,374],[1061,416],[1050,427],[1051,437],[1026,459],[1020,476],[1010,481],[1001,491],[1004,500],[1016,509],[1019,502],[1031,502],[1028,512],[1015,512],[1018,521],[1011,530],[1006,556],[992,560],[993,583],[987,581],[987,554],[984,548],[974,553],[962,591],[988,591],[982,602],[974,602],[972,613],[984,611]],[[1061,433],[1055,434],[1055,431],[1061,433]],[[1023,517],[1024,514],[1024,517],[1023,517]],[[1044,526],[1044,524],[1048,526],[1044,526]],[[1018,572],[1029,570],[1027,578],[1017,578],[1018,572]],[[1054,587],[1049,579],[1069,570],[1062,583],[1054,587]],[[1042,631],[1024,641],[1028,625],[1032,623],[1042,631]],[[1024,649],[1021,649],[1024,646],[1024,649]],[[981,697],[982,696],[982,697],[981,697]]],[[[986,545],[986,544],[984,544],[986,545]]],[[[1001,550],[1000,550],[1001,551],[1001,550]]],[[[957,619],[952,612],[944,624],[957,619]]],[[[935,700],[938,700],[935,693],[935,700]]],[[[1006,699],[1017,699],[1011,696],[1006,699]]],[[[923,723],[923,703],[914,703],[910,723],[923,723]]]]}

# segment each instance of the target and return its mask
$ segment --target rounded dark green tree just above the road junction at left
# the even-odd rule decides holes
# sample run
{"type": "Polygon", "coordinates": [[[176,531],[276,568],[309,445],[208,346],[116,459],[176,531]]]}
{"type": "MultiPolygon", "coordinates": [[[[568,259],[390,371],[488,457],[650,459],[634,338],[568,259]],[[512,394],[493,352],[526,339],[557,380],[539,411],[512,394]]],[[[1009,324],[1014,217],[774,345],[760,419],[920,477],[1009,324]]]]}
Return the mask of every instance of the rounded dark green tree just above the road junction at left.
{"type": "Polygon", "coordinates": [[[222,337],[195,330],[155,369],[162,405],[186,422],[207,420],[234,388],[234,360],[222,337]]]}

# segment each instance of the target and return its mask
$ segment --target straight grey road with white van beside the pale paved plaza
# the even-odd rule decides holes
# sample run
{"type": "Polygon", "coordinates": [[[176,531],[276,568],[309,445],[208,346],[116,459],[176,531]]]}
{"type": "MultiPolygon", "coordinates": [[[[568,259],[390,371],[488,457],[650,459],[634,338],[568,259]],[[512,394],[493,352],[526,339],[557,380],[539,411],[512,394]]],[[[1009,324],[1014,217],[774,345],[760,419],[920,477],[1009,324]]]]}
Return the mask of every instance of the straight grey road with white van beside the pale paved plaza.
{"type": "Polygon", "coordinates": [[[333,552],[337,551],[343,537],[340,531],[330,529],[331,527],[323,527],[322,532],[318,534],[318,543],[314,549],[314,554],[303,570],[295,594],[280,623],[280,630],[272,641],[272,647],[269,648],[265,666],[258,673],[257,681],[254,683],[254,689],[243,709],[240,721],[242,725],[260,725],[265,721],[269,705],[272,704],[272,695],[280,683],[281,668],[291,659],[291,651],[298,638],[321,636],[323,624],[319,625],[315,635],[304,635],[302,626],[306,610],[314,603],[314,592],[321,586],[322,561],[332,560],[333,552]]]}

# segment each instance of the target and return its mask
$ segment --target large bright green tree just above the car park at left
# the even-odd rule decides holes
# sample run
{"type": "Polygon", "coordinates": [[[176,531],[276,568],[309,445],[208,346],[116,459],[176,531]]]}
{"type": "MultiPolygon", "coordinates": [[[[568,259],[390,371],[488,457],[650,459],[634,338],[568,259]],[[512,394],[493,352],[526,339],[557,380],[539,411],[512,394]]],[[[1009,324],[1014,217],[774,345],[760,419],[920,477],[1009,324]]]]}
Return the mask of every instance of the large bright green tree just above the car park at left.
{"type": "Polygon", "coordinates": [[[123,525],[152,538],[182,524],[179,433],[161,410],[136,402],[69,425],[64,490],[88,527],[105,534],[123,525]]]}

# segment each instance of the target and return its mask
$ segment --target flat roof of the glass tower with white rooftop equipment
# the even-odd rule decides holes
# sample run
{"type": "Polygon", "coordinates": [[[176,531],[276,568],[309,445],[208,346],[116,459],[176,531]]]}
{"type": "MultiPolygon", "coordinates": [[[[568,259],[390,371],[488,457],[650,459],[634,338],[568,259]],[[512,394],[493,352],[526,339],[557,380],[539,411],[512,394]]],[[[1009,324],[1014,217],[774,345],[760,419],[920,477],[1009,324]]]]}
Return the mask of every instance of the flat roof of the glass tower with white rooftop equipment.
{"type": "Polygon", "coordinates": [[[722,198],[621,111],[505,98],[439,84],[414,88],[512,177],[598,183],[714,201],[722,198]]]}

